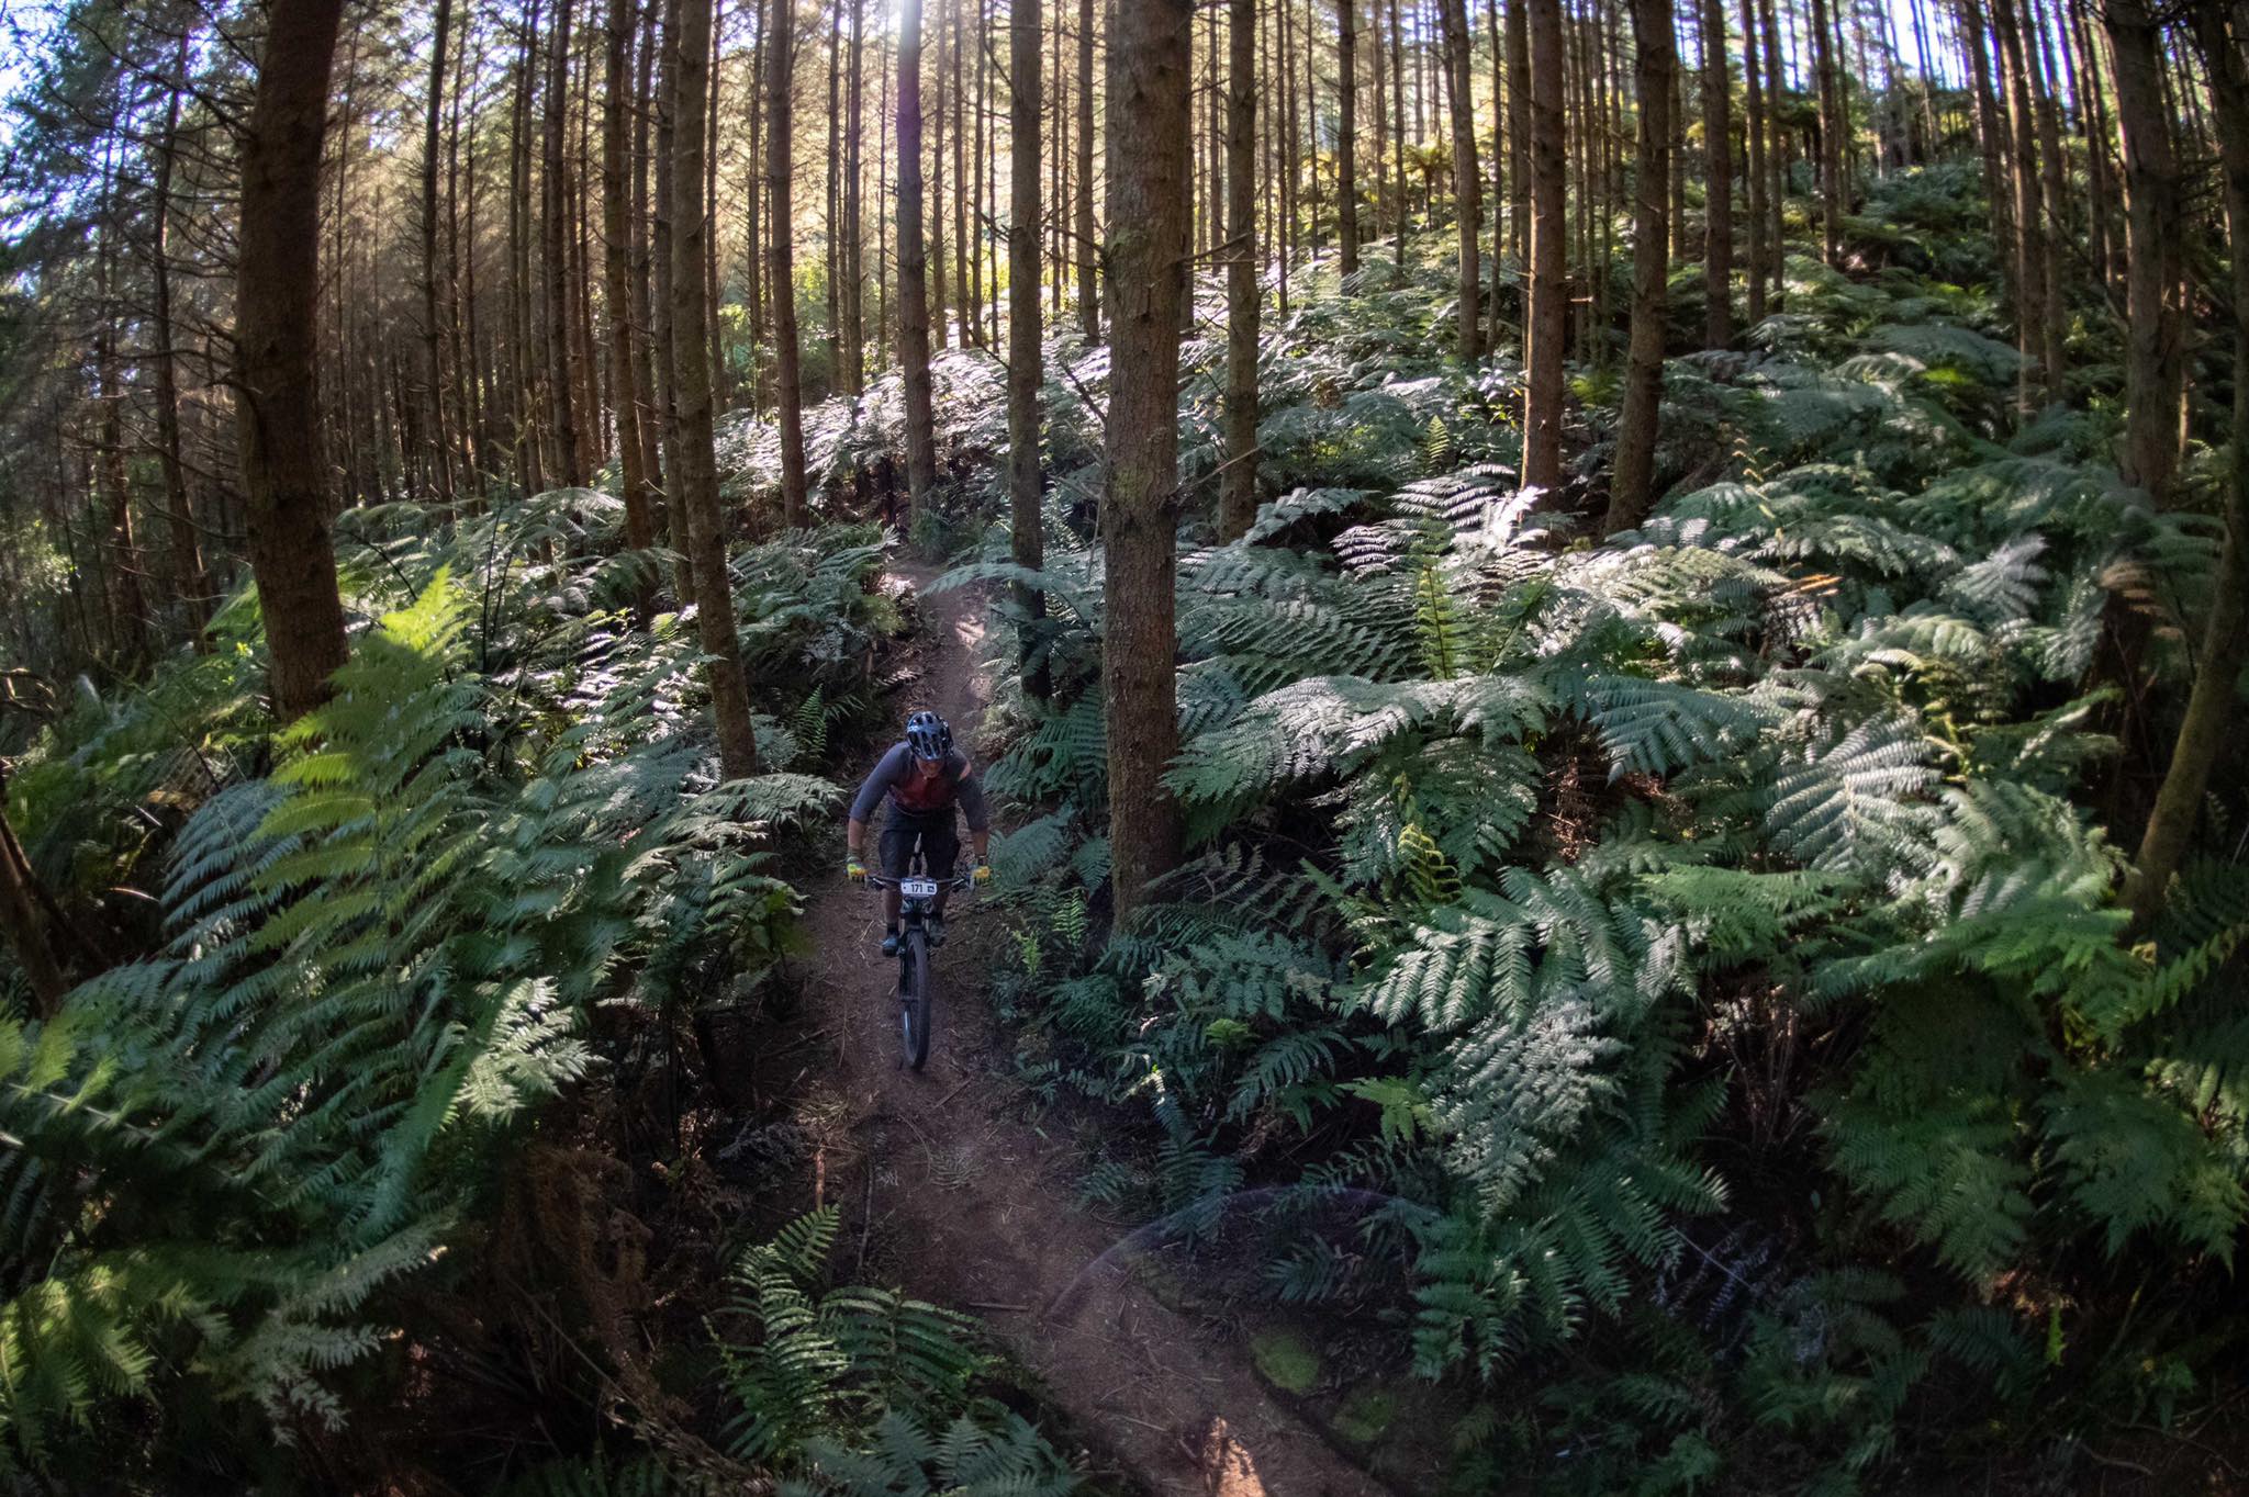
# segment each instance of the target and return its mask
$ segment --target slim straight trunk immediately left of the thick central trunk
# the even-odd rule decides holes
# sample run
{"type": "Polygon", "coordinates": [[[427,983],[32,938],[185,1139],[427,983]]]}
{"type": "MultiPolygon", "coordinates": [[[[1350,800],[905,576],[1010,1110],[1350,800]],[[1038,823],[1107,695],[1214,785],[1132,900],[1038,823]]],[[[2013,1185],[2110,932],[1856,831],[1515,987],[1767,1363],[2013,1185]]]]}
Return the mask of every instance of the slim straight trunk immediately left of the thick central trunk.
{"type": "MultiPolygon", "coordinates": [[[[1014,564],[1037,571],[1046,562],[1039,483],[1039,384],[1046,380],[1039,351],[1039,108],[1041,43],[1039,0],[1012,0],[1008,13],[1008,519],[1014,530],[1014,564]]],[[[1014,605],[1023,614],[1017,663],[1023,695],[1046,701],[1046,661],[1032,661],[1046,593],[1017,582],[1014,605]]]]}

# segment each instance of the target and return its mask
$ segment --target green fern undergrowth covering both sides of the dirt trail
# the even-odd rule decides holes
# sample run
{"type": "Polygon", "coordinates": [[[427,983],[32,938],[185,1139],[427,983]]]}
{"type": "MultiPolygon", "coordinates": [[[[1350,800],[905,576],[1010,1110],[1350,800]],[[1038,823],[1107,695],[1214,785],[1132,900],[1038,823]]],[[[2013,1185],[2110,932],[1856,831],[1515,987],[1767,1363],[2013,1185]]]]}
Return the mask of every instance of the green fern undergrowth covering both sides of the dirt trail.
{"type": "MultiPolygon", "coordinates": [[[[1089,1196],[1451,1389],[1457,1490],[2067,1484],[2240,1373],[2249,805],[2213,789],[2220,836],[2125,942],[2092,686],[2119,607],[2184,677],[2215,524],[2116,483],[2092,321],[2076,402],[2015,420],[1970,182],[1882,182],[1851,274],[1795,258],[1743,348],[1676,360],[1669,495],[1606,542],[1577,517],[1615,348],[1579,346],[1563,492],[1518,492],[1520,369],[1442,357],[1448,272],[1381,258],[1298,274],[1259,371],[1277,497],[1199,542],[1205,306],[1169,775],[1196,859],[1113,933],[1107,355],[1050,346],[1030,575],[990,519],[1003,371],[938,362],[909,539],[956,553],[947,587],[1046,593],[1028,623],[994,591],[992,636],[1055,688],[1003,686],[987,771],[1028,1097],[1124,1122],[1089,1196]]],[[[969,1322],[839,1286],[832,1212],[729,1236],[699,1351],[652,1355],[616,1205],[625,1160],[704,1149],[634,1097],[789,951],[830,737],[888,710],[884,533],[843,512],[900,427],[895,375],[814,409],[837,521],[735,555],[756,780],[715,780],[693,629],[648,611],[677,560],[598,490],[346,515],[353,663],[281,735],[236,598],[29,746],[9,814],[97,976],[47,1023],[0,1009],[0,1479],[319,1488],[407,1436],[524,1493],[1077,1484],[969,1322]],[[398,1412],[556,1387],[600,1441],[398,1412]]],[[[771,506],[767,427],[722,429],[722,468],[771,506]]]]}

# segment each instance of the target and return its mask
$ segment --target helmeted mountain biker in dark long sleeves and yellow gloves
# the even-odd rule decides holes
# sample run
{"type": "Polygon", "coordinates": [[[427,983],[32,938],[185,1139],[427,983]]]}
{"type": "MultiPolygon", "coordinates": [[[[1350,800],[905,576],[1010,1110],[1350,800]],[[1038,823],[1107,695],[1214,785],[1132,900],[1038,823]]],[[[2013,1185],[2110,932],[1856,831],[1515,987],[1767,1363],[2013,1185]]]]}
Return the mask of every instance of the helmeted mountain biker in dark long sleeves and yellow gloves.
{"type": "MultiPolygon", "coordinates": [[[[875,805],[888,793],[891,814],[882,823],[882,872],[886,879],[902,879],[913,861],[913,845],[922,845],[929,877],[938,879],[938,908],[929,917],[931,944],[945,940],[945,901],[951,895],[945,881],[954,877],[954,859],[960,856],[960,832],[954,823],[958,802],[969,816],[969,841],[976,845],[976,883],[992,879],[992,863],[985,845],[992,836],[992,818],[985,811],[983,784],[969,757],[954,748],[954,731],[936,713],[911,713],[906,717],[906,740],[891,744],[877,760],[875,771],[859,787],[850,802],[850,825],[843,841],[848,859],[843,877],[855,883],[866,881],[866,863],[859,847],[866,841],[866,820],[875,805]]],[[[897,890],[882,890],[882,953],[897,955],[897,890]]]]}

